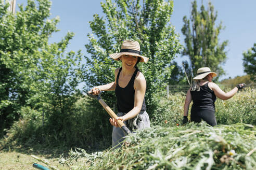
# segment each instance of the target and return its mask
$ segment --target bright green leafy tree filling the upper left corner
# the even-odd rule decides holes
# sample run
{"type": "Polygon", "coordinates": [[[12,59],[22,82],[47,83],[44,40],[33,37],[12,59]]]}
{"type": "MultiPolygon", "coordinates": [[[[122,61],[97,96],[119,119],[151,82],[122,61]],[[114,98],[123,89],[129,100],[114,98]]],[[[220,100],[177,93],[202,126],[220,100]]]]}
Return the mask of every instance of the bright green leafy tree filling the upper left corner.
{"type": "Polygon", "coordinates": [[[48,39],[57,32],[59,18],[48,19],[50,1],[28,0],[15,15],[0,2],[0,124],[10,126],[21,117],[21,108],[30,107],[62,114],[75,100],[72,95],[80,79],[80,51],[65,52],[73,33],[59,42],[48,39]]]}

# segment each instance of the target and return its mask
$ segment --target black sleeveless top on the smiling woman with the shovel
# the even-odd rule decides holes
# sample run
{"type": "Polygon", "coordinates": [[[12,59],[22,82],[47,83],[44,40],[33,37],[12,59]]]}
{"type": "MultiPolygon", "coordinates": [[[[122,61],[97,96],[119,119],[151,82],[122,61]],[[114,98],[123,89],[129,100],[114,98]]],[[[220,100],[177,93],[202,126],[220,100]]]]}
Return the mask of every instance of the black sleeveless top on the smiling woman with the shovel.
{"type": "MultiPolygon", "coordinates": [[[[119,112],[129,112],[133,109],[134,107],[134,95],[135,95],[135,90],[134,90],[134,80],[138,72],[138,68],[136,68],[135,72],[133,73],[133,76],[127,86],[125,88],[121,88],[118,83],[119,75],[122,70],[122,67],[119,69],[118,75],[117,75],[117,86],[114,92],[116,93],[117,96],[117,107],[119,112]]],[[[146,110],[146,104],[145,104],[145,96],[143,99],[143,104],[142,104],[142,109],[141,110],[146,110]]]]}

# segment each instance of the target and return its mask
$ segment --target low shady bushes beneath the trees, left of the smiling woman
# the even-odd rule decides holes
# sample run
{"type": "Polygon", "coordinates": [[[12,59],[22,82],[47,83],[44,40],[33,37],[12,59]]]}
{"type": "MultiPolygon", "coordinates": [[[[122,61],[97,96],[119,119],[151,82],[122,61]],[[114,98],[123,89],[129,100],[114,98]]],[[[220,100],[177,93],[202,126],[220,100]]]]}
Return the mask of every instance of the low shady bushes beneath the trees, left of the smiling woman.
{"type": "Polygon", "coordinates": [[[88,97],[81,98],[73,104],[71,111],[63,115],[47,112],[52,116],[45,118],[44,125],[42,112],[23,107],[21,118],[12,124],[1,143],[4,147],[42,144],[50,147],[80,147],[90,151],[106,149],[111,145],[109,116],[96,100],[90,100],[88,97]]]}

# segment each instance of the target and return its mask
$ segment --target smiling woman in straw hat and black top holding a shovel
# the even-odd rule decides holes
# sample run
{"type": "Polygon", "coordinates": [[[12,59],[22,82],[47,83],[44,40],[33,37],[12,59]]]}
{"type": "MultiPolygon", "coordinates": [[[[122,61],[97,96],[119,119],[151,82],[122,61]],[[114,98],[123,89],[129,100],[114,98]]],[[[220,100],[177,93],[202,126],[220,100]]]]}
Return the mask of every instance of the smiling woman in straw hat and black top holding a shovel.
{"type": "Polygon", "coordinates": [[[136,67],[139,62],[146,63],[148,58],[140,55],[139,43],[131,40],[124,40],[120,52],[109,56],[122,62],[122,67],[114,72],[115,81],[94,87],[91,92],[98,95],[100,91],[115,91],[118,118],[110,118],[109,121],[113,125],[112,147],[120,147],[125,134],[118,126],[117,120],[123,121],[131,131],[150,127],[145,104],[146,79],[136,67]]]}

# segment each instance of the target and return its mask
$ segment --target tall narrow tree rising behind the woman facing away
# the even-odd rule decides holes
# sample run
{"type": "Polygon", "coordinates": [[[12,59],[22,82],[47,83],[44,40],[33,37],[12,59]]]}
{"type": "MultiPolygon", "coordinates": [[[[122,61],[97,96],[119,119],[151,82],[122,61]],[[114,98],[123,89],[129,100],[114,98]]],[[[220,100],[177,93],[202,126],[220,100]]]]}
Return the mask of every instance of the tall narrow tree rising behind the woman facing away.
{"type": "Polygon", "coordinates": [[[222,23],[215,26],[217,12],[211,2],[208,9],[201,5],[200,11],[197,10],[197,1],[192,2],[190,19],[184,16],[184,26],[182,33],[185,35],[185,48],[183,55],[188,55],[193,74],[196,75],[200,67],[210,67],[219,75],[224,74],[221,66],[226,60],[225,47],[228,41],[219,44],[218,36],[223,29],[222,23]]]}

